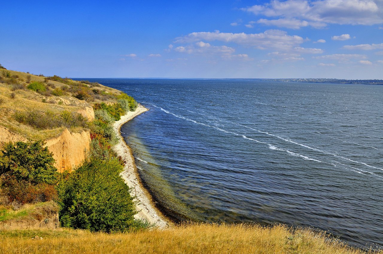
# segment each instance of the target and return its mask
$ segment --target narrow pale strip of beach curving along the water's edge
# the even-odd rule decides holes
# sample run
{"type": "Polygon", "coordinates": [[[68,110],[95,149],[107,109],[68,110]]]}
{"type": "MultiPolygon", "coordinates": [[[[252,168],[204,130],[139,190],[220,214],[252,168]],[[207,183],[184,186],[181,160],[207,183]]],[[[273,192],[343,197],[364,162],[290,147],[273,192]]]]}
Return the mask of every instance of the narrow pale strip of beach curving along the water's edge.
{"type": "Polygon", "coordinates": [[[117,145],[113,150],[122,157],[125,161],[124,171],[120,174],[125,183],[131,188],[131,195],[136,197],[138,204],[136,209],[138,213],[134,215],[136,219],[145,219],[149,223],[155,224],[158,228],[165,228],[169,226],[170,221],[154,206],[153,200],[149,192],[142,186],[141,179],[139,178],[136,164],[134,163],[133,154],[130,147],[125,143],[121,136],[121,126],[133,119],[135,116],[148,111],[146,107],[138,104],[136,111],[129,111],[121,119],[116,121],[113,129],[119,137],[117,145]]]}

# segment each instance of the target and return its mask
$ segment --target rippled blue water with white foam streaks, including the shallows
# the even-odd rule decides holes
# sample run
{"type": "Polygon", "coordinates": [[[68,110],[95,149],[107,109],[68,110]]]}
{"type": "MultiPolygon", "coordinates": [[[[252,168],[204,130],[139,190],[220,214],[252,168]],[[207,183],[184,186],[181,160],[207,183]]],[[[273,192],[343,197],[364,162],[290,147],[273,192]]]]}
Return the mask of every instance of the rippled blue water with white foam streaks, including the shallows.
{"type": "Polygon", "coordinates": [[[90,81],[151,109],[121,132],[173,218],[313,226],[383,245],[383,86],[90,81]]]}

